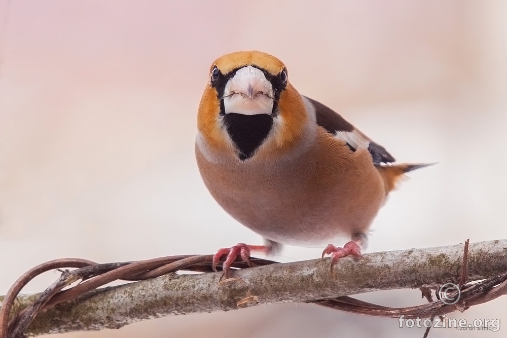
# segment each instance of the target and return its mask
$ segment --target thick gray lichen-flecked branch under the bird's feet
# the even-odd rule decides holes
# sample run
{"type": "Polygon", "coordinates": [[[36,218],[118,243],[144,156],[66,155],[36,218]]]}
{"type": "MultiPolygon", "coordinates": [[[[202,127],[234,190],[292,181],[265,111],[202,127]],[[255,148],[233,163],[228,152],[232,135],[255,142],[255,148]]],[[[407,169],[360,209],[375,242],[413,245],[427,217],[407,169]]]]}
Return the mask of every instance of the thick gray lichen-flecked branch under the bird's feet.
{"type": "MultiPolygon", "coordinates": [[[[459,283],[463,244],[342,258],[330,276],[330,259],[314,259],[222,273],[170,274],[95,290],[39,314],[29,335],[120,328],[145,319],[250,305],[311,302],[363,292],[459,283]],[[239,302],[239,305],[238,305],[239,302]]],[[[466,281],[507,271],[507,240],[470,244],[466,281]]],[[[14,311],[33,302],[20,295],[14,311]]],[[[0,305],[3,297],[0,296],[0,305]]]]}

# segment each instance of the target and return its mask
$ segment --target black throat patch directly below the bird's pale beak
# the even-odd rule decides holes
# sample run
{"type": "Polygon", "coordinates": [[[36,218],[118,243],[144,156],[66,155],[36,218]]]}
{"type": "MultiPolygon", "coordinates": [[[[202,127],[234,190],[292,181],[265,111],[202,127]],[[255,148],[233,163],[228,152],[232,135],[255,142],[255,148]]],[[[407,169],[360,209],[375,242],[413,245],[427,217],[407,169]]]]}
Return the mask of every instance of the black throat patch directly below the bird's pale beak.
{"type": "Polygon", "coordinates": [[[230,112],[224,116],[224,125],[239,150],[239,159],[244,161],[255,154],[268,136],[273,118],[267,114],[244,115],[230,112]]]}

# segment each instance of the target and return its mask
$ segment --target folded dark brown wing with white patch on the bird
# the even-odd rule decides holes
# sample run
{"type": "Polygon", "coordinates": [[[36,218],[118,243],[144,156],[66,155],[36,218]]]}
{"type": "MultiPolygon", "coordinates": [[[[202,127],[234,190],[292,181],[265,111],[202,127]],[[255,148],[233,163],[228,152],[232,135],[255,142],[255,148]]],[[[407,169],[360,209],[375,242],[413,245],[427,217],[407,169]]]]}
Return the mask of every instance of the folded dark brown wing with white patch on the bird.
{"type": "Polygon", "coordinates": [[[368,148],[374,164],[392,163],[395,161],[383,146],[375,143],[359,129],[347,122],[336,111],[309,97],[307,99],[315,107],[317,124],[335,137],[345,141],[352,151],[355,152],[359,147],[368,148]]]}

